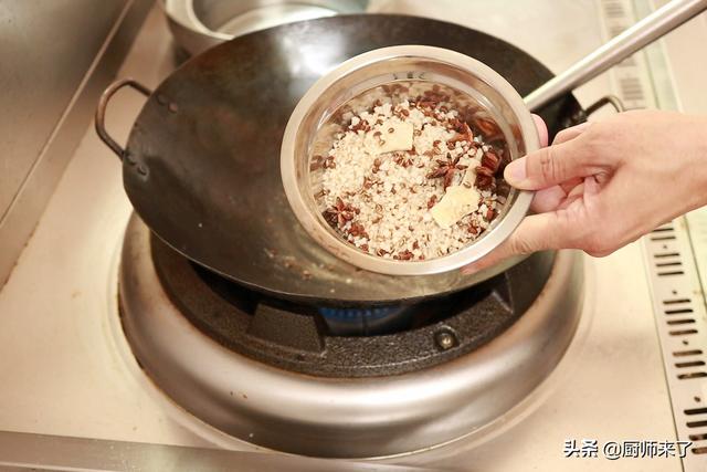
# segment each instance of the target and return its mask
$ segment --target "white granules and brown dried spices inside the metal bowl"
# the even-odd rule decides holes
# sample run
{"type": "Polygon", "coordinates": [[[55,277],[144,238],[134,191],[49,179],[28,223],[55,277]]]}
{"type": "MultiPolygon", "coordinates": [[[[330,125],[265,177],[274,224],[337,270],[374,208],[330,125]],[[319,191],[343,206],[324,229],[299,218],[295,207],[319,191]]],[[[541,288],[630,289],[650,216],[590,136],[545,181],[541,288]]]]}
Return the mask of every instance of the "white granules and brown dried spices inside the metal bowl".
{"type": "Polygon", "coordinates": [[[313,158],[324,169],[317,201],[329,224],[369,254],[399,261],[449,254],[496,218],[500,151],[484,143],[475,122],[463,119],[442,88],[412,99],[401,95],[407,87],[387,90],[390,96],[367,112],[348,115],[327,156],[313,158]],[[437,206],[452,187],[473,190],[473,201],[483,204],[447,225],[436,219],[437,206]]]}

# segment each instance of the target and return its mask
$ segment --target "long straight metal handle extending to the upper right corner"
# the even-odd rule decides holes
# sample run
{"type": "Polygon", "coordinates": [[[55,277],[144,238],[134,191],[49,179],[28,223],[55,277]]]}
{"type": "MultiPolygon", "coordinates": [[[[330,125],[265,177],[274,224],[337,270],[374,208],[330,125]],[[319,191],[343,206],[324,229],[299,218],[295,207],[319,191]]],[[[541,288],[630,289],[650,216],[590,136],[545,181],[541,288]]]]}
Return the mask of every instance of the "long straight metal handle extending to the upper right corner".
{"type": "Polygon", "coordinates": [[[673,0],[532,91],[525,97],[528,108],[542,107],[669,33],[705,9],[707,0],[673,0]]]}

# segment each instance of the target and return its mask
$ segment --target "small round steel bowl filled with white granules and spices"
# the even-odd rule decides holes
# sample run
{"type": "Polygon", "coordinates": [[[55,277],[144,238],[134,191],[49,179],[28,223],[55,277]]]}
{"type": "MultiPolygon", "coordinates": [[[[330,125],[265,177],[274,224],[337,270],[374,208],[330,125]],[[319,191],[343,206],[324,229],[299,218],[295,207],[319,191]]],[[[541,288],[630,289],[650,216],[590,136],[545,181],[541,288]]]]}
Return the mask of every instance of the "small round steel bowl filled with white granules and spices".
{"type": "MultiPolygon", "coordinates": [[[[428,136],[428,140],[432,138],[428,136]]],[[[499,74],[454,51],[403,45],[352,57],[305,93],[285,129],[281,172],[295,216],[325,249],[369,271],[422,275],[472,263],[508,238],[526,216],[532,193],[505,183],[503,167],[538,148],[539,138],[530,112],[499,74]],[[440,97],[445,97],[451,105],[440,111],[440,97]],[[386,101],[392,106],[381,106],[386,101]],[[437,108],[430,108],[430,104],[437,108]],[[376,122],[369,124],[361,117],[376,122]],[[413,118],[416,125],[426,127],[414,130],[420,155],[410,138],[405,139],[405,134],[413,133],[413,118]],[[450,138],[455,125],[462,136],[450,138]],[[441,133],[441,138],[434,139],[434,150],[423,151],[425,146],[431,149],[424,139],[426,135],[436,137],[432,133],[441,133]],[[465,139],[465,133],[468,141],[455,143],[465,139]],[[360,146],[355,148],[351,143],[360,146]],[[351,148],[358,149],[358,155],[351,157],[351,148]],[[384,154],[379,158],[377,151],[384,154]],[[409,155],[412,160],[405,161],[409,155]],[[341,159],[338,169],[335,157],[341,159]],[[351,160],[357,158],[372,162],[376,176],[365,177],[368,168],[351,160]],[[486,177],[479,176],[479,170],[488,169],[476,167],[474,170],[474,162],[482,159],[486,166],[490,160],[496,171],[493,193],[482,186],[481,179],[486,177]],[[400,165],[404,169],[398,170],[400,165]],[[465,181],[469,175],[472,182],[476,180],[474,187],[465,181]],[[402,183],[398,180],[408,193],[395,197],[394,185],[384,179],[401,176],[409,179],[402,183]],[[380,185],[378,195],[372,197],[374,202],[369,192],[344,191],[350,182],[357,182],[354,187],[362,183],[370,188],[367,180],[370,177],[380,185]],[[437,199],[434,195],[429,202],[412,204],[409,199],[420,198],[414,190],[416,183],[428,190],[436,189],[443,196],[437,199]],[[344,198],[333,193],[338,185],[344,198]],[[389,198],[381,200],[381,193],[389,198]],[[473,208],[475,212],[464,219],[461,214],[466,210],[460,213],[460,198],[474,200],[473,207],[464,208],[473,208]],[[398,207],[401,199],[408,206],[404,209],[398,207]],[[398,203],[393,208],[394,201],[398,203]],[[366,202],[376,203],[380,210],[377,218],[369,214],[366,202]],[[419,209],[419,214],[409,208],[419,209]],[[398,221],[404,228],[399,228],[398,221]],[[373,228],[373,223],[382,228],[373,228]],[[467,227],[473,237],[464,230],[467,227]],[[368,233],[373,232],[377,237],[369,241],[368,233]]]]}

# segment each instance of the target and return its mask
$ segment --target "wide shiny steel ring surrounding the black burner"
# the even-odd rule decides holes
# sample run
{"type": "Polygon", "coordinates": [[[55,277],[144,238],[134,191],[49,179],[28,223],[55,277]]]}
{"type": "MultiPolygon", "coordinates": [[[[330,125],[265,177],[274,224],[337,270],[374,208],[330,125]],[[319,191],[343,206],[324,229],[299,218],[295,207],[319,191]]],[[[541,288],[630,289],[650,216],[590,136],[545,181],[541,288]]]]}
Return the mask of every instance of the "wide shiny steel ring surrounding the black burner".
{"type": "Polygon", "coordinates": [[[305,455],[407,453],[493,422],[552,371],[582,305],[581,256],[563,251],[530,308],[477,350],[418,374],[312,377],[251,360],[203,335],[160,286],[149,251],[149,231],[134,218],[122,255],[122,319],[146,374],[218,429],[305,455]]]}

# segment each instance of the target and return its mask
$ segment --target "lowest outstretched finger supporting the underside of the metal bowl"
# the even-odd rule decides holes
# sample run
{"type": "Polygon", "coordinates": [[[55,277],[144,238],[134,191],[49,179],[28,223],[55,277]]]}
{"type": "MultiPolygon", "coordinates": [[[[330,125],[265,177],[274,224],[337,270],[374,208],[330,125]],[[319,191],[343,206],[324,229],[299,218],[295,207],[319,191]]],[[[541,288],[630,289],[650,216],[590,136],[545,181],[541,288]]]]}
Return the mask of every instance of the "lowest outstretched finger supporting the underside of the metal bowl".
{"type": "Polygon", "coordinates": [[[571,234],[567,225],[567,220],[557,212],[526,217],[506,241],[488,255],[463,268],[462,273],[471,274],[483,271],[511,255],[567,248],[568,238],[571,234]]]}

